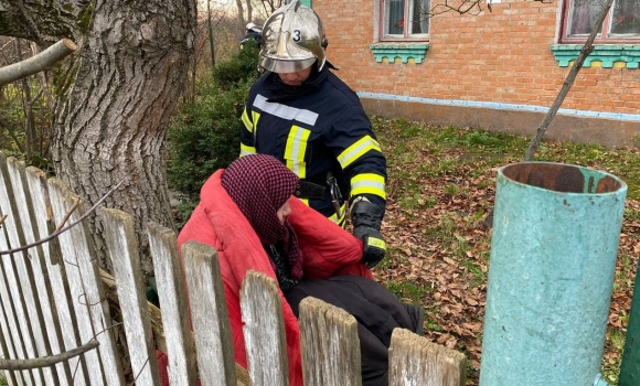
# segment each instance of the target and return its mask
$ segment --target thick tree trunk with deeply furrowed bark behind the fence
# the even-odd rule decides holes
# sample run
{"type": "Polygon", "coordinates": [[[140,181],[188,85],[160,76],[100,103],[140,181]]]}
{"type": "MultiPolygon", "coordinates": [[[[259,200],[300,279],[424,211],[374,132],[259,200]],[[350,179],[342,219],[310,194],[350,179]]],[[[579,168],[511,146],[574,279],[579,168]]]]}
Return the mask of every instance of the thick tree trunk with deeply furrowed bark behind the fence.
{"type": "MultiPolygon", "coordinates": [[[[56,175],[86,208],[122,182],[106,205],[135,216],[150,274],[146,224],[173,227],[164,141],[193,53],[195,0],[18,2],[0,0],[0,34],[49,44],[72,37],[78,45],[54,81],[56,175]]],[[[100,266],[110,270],[99,215],[89,227],[100,266]]]]}

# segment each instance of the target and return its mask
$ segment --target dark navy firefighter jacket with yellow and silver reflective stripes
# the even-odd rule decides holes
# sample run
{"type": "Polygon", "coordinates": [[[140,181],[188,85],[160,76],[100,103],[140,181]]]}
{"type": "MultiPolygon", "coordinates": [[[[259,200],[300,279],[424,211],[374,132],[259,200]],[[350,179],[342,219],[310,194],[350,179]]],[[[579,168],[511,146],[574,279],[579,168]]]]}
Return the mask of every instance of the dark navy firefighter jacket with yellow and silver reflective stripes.
{"type": "MultiPolygon", "coordinates": [[[[252,87],[242,115],[241,157],[270,154],[301,180],[327,186],[331,173],[343,200],[364,195],[385,207],[386,159],[358,95],[329,71],[313,73],[300,87],[267,72],[252,87]]],[[[303,200],[334,223],[344,224],[331,202],[303,200]]]]}

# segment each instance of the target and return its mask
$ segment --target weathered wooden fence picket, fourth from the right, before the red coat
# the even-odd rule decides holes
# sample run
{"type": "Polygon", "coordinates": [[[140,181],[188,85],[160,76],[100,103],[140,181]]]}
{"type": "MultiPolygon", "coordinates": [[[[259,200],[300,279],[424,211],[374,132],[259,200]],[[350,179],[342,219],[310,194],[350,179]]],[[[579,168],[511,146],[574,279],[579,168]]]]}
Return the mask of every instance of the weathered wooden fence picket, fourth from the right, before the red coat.
{"type": "Polygon", "coordinates": [[[191,322],[195,336],[195,351],[202,386],[237,385],[231,324],[217,253],[214,248],[188,242],[182,246],[184,274],[189,288],[191,322]]]}

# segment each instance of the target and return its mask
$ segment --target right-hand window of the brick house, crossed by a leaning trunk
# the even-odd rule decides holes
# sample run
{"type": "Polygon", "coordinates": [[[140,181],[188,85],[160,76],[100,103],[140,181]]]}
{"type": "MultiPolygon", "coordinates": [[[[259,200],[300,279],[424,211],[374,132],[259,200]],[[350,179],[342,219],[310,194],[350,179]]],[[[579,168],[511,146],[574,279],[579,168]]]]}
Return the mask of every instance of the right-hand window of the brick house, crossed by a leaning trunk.
{"type": "MultiPolygon", "coordinates": [[[[585,42],[602,10],[602,0],[567,0],[562,43],[585,42]]],[[[595,43],[640,42],[640,0],[614,0],[595,43]]]]}

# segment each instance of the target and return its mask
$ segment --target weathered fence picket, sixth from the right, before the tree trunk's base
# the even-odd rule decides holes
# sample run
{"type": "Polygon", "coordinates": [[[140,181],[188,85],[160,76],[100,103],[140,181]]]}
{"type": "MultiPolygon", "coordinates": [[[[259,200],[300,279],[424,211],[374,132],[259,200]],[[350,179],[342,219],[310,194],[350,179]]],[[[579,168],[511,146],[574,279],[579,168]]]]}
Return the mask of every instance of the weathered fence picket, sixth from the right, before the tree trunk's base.
{"type": "Polygon", "coordinates": [[[113,208],[102,210],[100,215],[104,218],[105,239],[117,281],[120,312],[136,385],[160,385],[134,218],[122,211],[113,208]]]}

